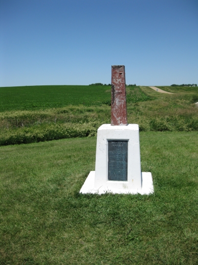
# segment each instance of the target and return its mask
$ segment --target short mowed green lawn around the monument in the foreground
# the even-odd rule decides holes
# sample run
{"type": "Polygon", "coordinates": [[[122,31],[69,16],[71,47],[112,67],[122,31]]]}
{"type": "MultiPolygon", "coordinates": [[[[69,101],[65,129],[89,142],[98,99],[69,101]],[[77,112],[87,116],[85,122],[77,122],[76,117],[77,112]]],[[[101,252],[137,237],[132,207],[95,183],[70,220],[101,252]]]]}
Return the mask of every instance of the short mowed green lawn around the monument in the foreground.
{"type": "Polygon", "coordinates": [[[198,264],[198,132],[140,132],[154,194],[80,195],[96,137],[0,147],[0,264],[198,264]]]}

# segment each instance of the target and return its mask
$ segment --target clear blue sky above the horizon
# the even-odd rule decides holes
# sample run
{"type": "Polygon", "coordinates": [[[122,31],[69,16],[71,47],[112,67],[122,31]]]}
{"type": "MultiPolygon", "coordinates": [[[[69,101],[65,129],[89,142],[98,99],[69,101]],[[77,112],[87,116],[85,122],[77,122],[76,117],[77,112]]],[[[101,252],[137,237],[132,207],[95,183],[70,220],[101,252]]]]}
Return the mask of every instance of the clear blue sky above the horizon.
{"type": "Polygon", "coordinates": [[[198,0],[0,0],[0,86],[198,83],[198,0]]]}

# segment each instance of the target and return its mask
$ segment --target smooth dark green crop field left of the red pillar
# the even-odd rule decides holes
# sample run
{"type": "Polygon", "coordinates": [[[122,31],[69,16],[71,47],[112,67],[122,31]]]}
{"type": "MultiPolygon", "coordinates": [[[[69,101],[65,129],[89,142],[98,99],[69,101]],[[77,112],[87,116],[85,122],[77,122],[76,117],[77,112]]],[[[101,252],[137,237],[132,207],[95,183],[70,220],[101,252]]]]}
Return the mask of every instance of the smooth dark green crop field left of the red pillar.
{"type": "Polygon", "coordinates": [[[68,105],[101,105],[110,101],[106,86],[46,85],[0,87],[0,112],[35,110],[68,105]]]}

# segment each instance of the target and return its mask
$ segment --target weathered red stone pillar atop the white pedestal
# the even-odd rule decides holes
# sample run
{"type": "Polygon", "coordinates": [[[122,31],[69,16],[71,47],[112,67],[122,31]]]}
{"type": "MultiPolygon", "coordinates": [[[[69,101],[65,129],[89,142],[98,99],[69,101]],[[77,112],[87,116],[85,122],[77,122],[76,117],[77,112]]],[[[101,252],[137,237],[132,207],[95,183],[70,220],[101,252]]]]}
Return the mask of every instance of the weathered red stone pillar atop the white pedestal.
{"type": "Polygon", "coordinates": [[[111,125],[127,125],[125,66],[111,66],[111,125]]]}

